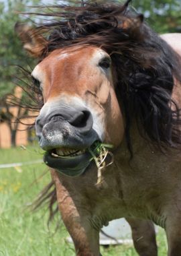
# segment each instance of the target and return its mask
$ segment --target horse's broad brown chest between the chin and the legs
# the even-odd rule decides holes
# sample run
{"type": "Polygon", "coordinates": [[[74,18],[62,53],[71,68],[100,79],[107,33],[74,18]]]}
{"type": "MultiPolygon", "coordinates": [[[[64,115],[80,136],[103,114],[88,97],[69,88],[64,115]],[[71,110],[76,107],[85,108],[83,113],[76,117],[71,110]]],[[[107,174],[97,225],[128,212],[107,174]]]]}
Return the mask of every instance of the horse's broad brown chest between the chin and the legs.
{"type": "Polygon", "coordinates": [[[158,161],[151,156],[145,162],[142,158],[145,156],[135,156],[133,162],[115,159],[114,164],[103,171],[101,185],[96,185],[94,165],[74,179],[60,175],[60,183],[65,188],[60,197],[70,197],[71,211],[76,209],[78,214],[88,216],[88,222],[97,229],[122,217],[149,218],[164,226],[165,207],[178,193],[179,163],[169,164],[166,158],[158,161]],[[170,184],[170,180],[174,182],[170,184]]]}

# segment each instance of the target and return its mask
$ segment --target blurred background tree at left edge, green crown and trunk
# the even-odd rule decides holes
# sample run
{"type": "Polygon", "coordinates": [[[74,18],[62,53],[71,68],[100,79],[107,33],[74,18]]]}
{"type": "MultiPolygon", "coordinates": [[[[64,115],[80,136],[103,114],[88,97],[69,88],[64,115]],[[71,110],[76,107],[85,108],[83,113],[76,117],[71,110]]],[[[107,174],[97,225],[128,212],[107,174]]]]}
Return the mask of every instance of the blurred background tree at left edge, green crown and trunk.
{"type": "MultiPolygon", "coordinates": [[[[6,4],[0,3],[0,120],[6,122],[11,131],[12,146],[15,146],[18,120],[27,116],[27,109],[21,106],[24,99],[23,93],[18,95],[20,104],[17,106],[17,111],[14,111],[13,104],[9,101],[9,95],[15,94],[17,88],[17,65],[25,67],[33,63],[33,60],[23,51],[21,42],[14,32],[15,23],[20,19],[15,11],[25,11],[27,3],[32,2],[8,0],[6,4]]],[[[21,21],[22,19],[25,22],[23,16],[21,21]]]]}

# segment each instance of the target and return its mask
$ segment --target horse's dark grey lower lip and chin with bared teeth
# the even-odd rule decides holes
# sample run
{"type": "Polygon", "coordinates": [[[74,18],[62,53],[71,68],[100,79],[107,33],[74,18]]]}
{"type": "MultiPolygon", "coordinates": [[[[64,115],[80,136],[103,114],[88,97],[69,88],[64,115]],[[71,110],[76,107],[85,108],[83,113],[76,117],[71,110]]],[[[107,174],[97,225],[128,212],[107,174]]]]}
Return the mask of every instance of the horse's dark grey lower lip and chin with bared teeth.
{"type": "Polygon", "coordinates": [[[44,162],[68,177],[80,176],[91,164],[93,156],[88,151],[56,148],[46,152],[44,162]]]}

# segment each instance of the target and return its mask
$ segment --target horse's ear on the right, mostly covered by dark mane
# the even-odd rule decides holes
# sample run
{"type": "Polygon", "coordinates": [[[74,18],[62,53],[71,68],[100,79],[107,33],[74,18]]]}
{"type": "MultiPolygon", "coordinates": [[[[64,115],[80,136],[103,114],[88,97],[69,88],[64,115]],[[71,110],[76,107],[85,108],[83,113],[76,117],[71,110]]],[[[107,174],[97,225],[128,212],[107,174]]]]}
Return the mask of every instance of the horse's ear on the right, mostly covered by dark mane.
{"type": "Polygon", "coordinates": [[[134,30],[135,28],[139,28],[139,26],[141,26],[143,20],[144,16],[142,14],[135,18],[125,18],[125,20],[122,21],[120,27],[123,28],[123,30],[134,30]]]}

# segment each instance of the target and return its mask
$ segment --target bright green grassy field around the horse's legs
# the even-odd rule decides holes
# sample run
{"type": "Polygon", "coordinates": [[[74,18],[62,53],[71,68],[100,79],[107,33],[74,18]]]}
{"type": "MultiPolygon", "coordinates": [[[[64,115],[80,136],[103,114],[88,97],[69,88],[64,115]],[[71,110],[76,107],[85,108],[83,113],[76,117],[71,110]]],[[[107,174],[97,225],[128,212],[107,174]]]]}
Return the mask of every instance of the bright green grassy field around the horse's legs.
{"type": "MultiPolygon", "coordinates": [[[[27,162],[42,158],[36,147],[27,150],[0,150],[0,164],[27,162]]],[[[36,212],[29,205],[50,181],[44,164],[0,169],[0,256],[73,256],[73,245],[66,242],[68,233],[60,220],[47,226],[48,210],[36,212]],[[40,179],[40,177],[42,177],[40,179]]],[[[60,218],[60,216],[57,216],[60,218]]],[[[58,219],[57,219],[58,220],[58,219]]],[[[166,255],[166,235],[158,232],[159,256],[166,255]]],[[[131,246],[101,247],[103,256],[136,256],[131,246]]]]}

